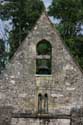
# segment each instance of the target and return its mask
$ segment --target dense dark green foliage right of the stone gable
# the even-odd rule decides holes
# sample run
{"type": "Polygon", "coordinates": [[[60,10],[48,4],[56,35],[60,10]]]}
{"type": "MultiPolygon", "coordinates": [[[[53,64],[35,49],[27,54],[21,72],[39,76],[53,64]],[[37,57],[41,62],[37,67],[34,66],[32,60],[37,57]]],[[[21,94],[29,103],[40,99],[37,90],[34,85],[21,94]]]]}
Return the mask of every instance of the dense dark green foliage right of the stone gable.
{"type": "Polygon", "coordinates": [[[56,28],[83,68],[83,1],[52,0],[48,14],[60,20],[56,28]]]}

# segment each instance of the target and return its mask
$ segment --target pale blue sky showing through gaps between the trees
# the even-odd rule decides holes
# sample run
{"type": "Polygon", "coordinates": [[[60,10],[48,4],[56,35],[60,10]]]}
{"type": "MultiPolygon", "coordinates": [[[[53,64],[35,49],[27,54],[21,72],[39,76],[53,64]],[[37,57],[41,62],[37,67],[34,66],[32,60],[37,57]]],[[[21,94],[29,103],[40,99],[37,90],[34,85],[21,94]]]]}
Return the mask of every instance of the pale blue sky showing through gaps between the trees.
{"type": "MultiPolygon", "coordinates": [[[[1,0],[0,0],[0,1],[1,1],[1,0]]],[[[44,2],[46,9],[48,8],[48,6],[49,6],[49,5],[51,4],[51,2],[52,2],[52,0],[42,0],[42,1],[44,2]]],[[[52,17],[50,17],[50,19],[51,19],[51,21],[52,21],[53,23],[57,23],[57,20],[54,20],[52,17]]],[[[4,28],[5,28],[5,26],[9,25],[8,23],[9,23],[9,22],[2,22],[2,21],[0,20],[0,38],[6,39],[6,38],[4,38],[4,36],[5,36],[4,28]]]]}

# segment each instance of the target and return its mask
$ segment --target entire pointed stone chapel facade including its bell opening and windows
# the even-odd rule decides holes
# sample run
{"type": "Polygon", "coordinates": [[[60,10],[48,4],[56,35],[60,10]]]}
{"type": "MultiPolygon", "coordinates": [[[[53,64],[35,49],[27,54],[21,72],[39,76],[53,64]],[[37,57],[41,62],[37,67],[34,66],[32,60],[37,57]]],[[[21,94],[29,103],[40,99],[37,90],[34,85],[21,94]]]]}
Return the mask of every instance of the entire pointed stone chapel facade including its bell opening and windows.
{"type": "MultiPolygon", "coordinates": [[[[43,13],[0,75],[0,113],[12,107],[13,113],[70,114],[82,106],[83,74],[43,13]]],[[[10,125],[39,125],[30,120],[12,119],[10,125]]],[[[55,124],[70,121],[49,122],[55,124]]]]}

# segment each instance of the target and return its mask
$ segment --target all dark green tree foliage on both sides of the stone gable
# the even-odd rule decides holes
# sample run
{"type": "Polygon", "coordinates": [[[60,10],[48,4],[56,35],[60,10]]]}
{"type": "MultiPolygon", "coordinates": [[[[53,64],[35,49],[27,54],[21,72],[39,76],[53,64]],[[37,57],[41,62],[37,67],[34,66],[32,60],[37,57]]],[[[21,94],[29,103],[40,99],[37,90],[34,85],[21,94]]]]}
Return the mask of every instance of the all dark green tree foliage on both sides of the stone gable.
{"type": "MultiPolygon", "coordinates": [[[[0,71],[5,67],[6,56],[11,58],[33,28],[44,10],[41,0],[2,0],[0,2],[0,19],[11,20],[12,29],[9,34],[7,53],[5,41],[0,39],[0,71]]],[[[49,16],[60,20],[56,28],[61,33],[64,42],[83,68],[83,1],[82,0],[52,0],[48,8],[49,16]]],[[[5,28],[6,29],[6,28],[5,28]]]]}

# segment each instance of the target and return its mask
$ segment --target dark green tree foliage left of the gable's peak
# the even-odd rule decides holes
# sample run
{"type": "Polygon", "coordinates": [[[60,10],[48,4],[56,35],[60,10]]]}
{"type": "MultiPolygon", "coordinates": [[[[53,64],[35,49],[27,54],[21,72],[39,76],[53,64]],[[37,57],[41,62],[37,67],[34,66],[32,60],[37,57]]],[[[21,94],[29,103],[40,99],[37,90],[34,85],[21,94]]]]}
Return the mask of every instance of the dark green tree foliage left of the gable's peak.
{"type": "Polygon", "coordinates": [[[0,19],[12,21],[12,30],[8,38],[10,58],[35,25],[43,10],[44,5],[41,0],[4,0],[0,3],[0,19]]]}

